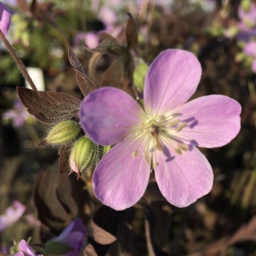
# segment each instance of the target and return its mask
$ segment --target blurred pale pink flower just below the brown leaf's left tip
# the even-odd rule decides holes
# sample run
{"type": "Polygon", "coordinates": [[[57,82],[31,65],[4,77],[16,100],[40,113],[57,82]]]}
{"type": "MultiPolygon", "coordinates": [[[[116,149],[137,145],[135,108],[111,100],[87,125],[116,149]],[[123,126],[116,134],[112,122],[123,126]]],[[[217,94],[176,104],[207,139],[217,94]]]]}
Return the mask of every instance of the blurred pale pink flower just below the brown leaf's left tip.
{"type": "Polygon", "coordinates": [[[3,119],[11,120],[12,125],[15,128],[22,126],[29,117],[31,117],[31,115],[28,113],[20,99],[14,101],[13,109],[8,110],[3,114],[3,119]]]}

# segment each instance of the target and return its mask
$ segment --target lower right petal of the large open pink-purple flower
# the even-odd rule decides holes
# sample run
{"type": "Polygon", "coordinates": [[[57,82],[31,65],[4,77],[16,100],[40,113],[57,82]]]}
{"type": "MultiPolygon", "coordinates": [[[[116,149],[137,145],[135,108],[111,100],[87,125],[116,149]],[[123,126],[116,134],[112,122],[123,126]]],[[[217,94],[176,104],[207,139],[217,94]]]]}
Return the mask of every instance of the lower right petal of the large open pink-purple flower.
{"type": "Polygon", "coordinates": [[[186,207],[209,193],[214,175],[208,160],[198,148],[178,155],[167,146],[157,154],[156,181],[170,204],[186,207]]]}

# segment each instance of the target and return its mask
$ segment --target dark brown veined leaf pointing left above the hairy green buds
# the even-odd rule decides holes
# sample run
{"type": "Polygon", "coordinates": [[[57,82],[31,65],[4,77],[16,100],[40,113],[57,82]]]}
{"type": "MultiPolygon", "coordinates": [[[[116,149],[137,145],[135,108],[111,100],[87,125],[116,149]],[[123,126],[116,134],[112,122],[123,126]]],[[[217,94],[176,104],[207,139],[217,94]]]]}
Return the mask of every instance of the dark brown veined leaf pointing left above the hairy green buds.
{"type": "Polygon", "coordinates": [[[81,101],[65,93],[34,92],[17,87],[20,100],[38,121],[54,124],[72,117],[78,117],[81,101]]]}

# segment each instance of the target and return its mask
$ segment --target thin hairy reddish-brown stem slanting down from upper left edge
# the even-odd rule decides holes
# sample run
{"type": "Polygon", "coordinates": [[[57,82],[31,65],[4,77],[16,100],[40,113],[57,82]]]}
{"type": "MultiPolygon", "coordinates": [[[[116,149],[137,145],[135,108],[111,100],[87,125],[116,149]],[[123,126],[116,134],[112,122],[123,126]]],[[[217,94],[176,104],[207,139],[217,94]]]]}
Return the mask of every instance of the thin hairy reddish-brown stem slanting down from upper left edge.
{"type": "Polygon", "coordinates": [[[37,89],[35,87],[34,82],[32,81],[31,77],[29,76],[23,62],[20,60],[20,58],[18,57],[17,53],[15,52],[15,50],[13,49],[13,47],[11,46],[10,42],[6,39],[5,35],[3,34],[2,30],[0,29],[0,39],[3,41],[3,43],[5,44],[7,50],[9,51],[9,53],[11,54],[12,58],[14,59],[14,61],[16,62],[20,72],[22,72],[22,74],[24,75],[25,79],[28,81],[28,83],[30,84],[31,88],[37,92],[37,89]]]}

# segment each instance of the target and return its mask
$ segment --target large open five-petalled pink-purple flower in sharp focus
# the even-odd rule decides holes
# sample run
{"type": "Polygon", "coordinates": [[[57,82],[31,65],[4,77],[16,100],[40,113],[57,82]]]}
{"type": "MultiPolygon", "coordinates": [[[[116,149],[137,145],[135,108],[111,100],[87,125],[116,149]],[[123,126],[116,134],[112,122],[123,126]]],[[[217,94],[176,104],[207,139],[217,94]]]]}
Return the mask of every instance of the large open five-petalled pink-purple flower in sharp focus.
{"type": "Polygon", "coordinates": [[[151,169],[170,204],[185,207],[209,193],[213,173],[196,146],[219,147],[240,131],[241,105],[209,95],[185,103],[198,87],[202,68],[193,53],[165,50],[145,78],[144,109],[112,87],[82,102],[84,131],[101,145],[116,144],[93,175],[96,197],[122,210],[144,194],[151,169]]]}

